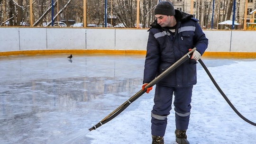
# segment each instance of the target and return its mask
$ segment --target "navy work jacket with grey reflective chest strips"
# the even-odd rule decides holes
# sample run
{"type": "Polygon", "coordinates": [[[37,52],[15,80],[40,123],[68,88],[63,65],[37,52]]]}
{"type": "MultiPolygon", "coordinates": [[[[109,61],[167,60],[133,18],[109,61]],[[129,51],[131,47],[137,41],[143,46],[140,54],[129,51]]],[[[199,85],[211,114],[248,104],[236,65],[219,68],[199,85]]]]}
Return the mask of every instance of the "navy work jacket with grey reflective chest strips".
{"type": "MultiPolygon", "coordinates": [[[[193,16],[175,9],[177,27],[175,34],[165,27],[151,24],[149,31],[143,83],[149,83],[168,67],[178,61],[189,49],[196,47],[202,55],[208,46],[198,20],[193,16]]],[[[188,59],[157,84],[185,87],[196,84],[196,61],[188,59]]]]}

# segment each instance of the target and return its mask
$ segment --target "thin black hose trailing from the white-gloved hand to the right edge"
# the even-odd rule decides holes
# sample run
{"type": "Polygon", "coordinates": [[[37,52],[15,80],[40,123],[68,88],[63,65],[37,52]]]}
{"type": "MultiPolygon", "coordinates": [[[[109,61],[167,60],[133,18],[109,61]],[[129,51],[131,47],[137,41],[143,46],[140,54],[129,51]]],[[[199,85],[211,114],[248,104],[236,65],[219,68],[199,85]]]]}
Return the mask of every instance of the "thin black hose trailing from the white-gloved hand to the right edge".
{"type": "Polygon", "coordinates": [[[201,59],[198,60],[198,62],[202,65],[203,69],[205,70],[205,72],[208,74],[208,76],[210,77],[210,80],[213,82],[213,84],[215,85],[215,87],[217,88],[217,90],[219,90],[219,93],[223,96],[223,98],[228,102],[229,106],[236,112],[236,114],[241,117],[244,121],[246,121],[247,123],[256,126],[256,123],[248,120],[246,117],[244,117],[242,114],[239,113],[239,111],[237,110],[237,108],[234,107],[234,105],[230,102],[230,100],[228,99],[228,97],[225,95],[225,93],[219,88],[219,85],[217,84],[217,82],[213,79],[212,75],[210,74],[209,70],[207,69],[207,67],[205,66],[205,64],[202,62],[201,59]]]}

